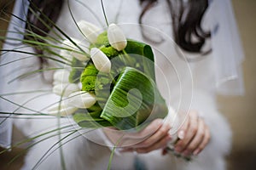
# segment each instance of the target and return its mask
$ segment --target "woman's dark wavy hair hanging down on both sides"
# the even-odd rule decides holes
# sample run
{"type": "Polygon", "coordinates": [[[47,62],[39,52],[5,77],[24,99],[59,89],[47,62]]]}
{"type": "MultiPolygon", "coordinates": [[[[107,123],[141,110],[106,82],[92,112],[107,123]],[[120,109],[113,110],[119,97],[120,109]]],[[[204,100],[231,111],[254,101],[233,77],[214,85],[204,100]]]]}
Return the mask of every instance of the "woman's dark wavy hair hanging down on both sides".
{"type": "MultiPolygon", "coordinates": [[[[158,0],[139,0],[143,5],[142,13],[139,17],[139,23],[143,23],[143,16],[147,11],[154,7],[158,0]]],[[[44,26],[35,13],[31,10],[27,14],[26,29],[37,33],[40,36],[47,36],[52,25],[49,20],[55,22],[60,14],[63,0],[30,0],[30,8],[34,11],[40,11],[40,18],[44,22],[49,23],[49,27],[44,26]],[[47,19],[45,16],[49,19],[47,19]]],[[[201,53],[201,48],[206,39],[210,37],[210,33],[204,31],[201,27],[201,20],[208,7],[208,0],[188,0],[186,3],[183,0],[166,0],[170,8],[172,17],[172,29],[174,41],[180,48],[188,52],[201,53]],[[195,37],[196,41],[192,40],[195,37]]],[[[38,13],[36,13],[38,14],[38,13]]],[[[33,38],[33,37],[26,37],[33,38]]],[[[43,41],[43,40],[38,40],[43,41]]],[[[36,53],[43,54],[40,48],[35,48],[36,53]]],[[[43,58],[42,62],[45,62],[43,58]]]]}

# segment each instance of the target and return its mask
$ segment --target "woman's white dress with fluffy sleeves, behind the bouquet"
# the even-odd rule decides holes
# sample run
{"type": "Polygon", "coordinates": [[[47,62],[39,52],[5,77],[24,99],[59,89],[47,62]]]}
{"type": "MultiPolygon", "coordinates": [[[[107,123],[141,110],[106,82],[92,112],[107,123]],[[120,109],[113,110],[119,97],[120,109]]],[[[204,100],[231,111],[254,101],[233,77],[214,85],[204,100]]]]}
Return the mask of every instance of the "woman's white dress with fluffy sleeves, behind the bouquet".
{"type": "MultiPolygon", "coordinates": [[[[86,20],[96,26],[106,26],[102,15],[100,1],[84,0],[83,3],[90,7],[100,19],[98,22],[93,14],[81,3],[70,1],[70,8],[73,11],[75,20],[86,20]]],[[[126,37],[138,41],[147,42],[143,39],[139,31],[138,16],[142,10],[138,0],[120,1],[106,0],[103,1],[109,23],[117,23],[125,31],[126,37]]],[[[224,170],[224,156],[230,150],[230,127],[225,121],[224,116],[218,112],[214,94],[214,66],[212,65],[211,54],[204,56],[197,62],[188,63],[177,55],[177,48],[173,45],[171,35],[171,18],[168,8],[164,1],[159,1],[156,6],[148,11],[144,16],[144,23],[148,25],[145,32],[153,40],[161,41],[152,44],[156,63],[156,78],[160,92],[166,99],[168,105],[172,105],[177,111],[200,111],[201,116],[210,127],[212,139],[207,148],[199,156],[193,158],[193,161],[183,161],[175,156],[162,156],[161,150],[155,150],[148,154],[139,154],[138,158],[133,153],[116,153],[113,156],[111,169],[135,169],[136,159],[143,162],[146,169],[180,169],[180,170],[224,170]],[[154,28],[151,28],[153,26],[154,28]],[[160,35],[160,36],[155,36],[160,35]],[[206,76],[207,75],[207,76],[206,76]]],[[[207,23],[207,20],[206,20],[207,23]]],[[[78,29],[76,28],[67,2],[64,3],[61,11],[61,17],[57,25],[67,32],[67,35],[81,39],[78,29]]],[[[207,26],[207,24],[206,24],[207,26]]],[[[53,34],[53,33],[52,33],[53,34]]],[[[207,48],[207,47],[206,47],[207,48]]],[[[26,48],[26,51],[32,51],[26,48]]],[[[186,54],[193,57],[191,54],[186,54]]],[[[26,57],[27,54],[20,54],[19,57],[26,57]]],[[[26,58],[19,61],[19,73],[32,71],[38,68],[38,59],[26,58]]],[[[47,79],[51,79],[52,71],[44,73],[47,79]]],[[[9,78],[12,76],[10,75],[9,78]]],[[[8,78],[7,78],[8,79],[8,78]]],[[[36,74],[24,79],[18,80],[19,91],[30,90],[50,90],[52,85],[45,82],[40,74],[36,74]]],[[[12,90],[11,90],[12,91],[12,90]]],[[[59,96],[52,93],[38,92],[33,94],[15,95],[15,103],[23,104],[17,112],[33,113],[34,111],[45,111],[44,108],[55,103],[60,99],[59,96]],[[41,95],[35,99],[35,96],[41,95]],[[28,102],[26,100],[32,99],[28,102]],[[25,108],[26,107],[26,108],[25,108]],[[27,110],[30,108],[30,110],[27,110]]],[[[17,108],[18,106],[15,106],[17,108]]],[[[61,126],[73,122],[72,119],[61,119],[61,126]]],[[[15,119],[15,125],[26,135],[47,132],[49,129],[58,127],[57,119],[15,119]]],[[[63,131],[64,132],[64,131],[63,131]]],[[[55,132],[55,134],[57,131],[55,132]]],[[[48,135],[52,135],[50,133],[48,135]]],[[[63,159],[67,169],[107,169],[111,149],[108,148],[108,142],[101,130],[92,131],[78,136],[80,133],[73,133],[67,136],[63,133],[61,140],[63,159]],[[70,140],[73,139],[73,140],[70,140]],[[67,142],[68,141],[68,142],[67,142]]],[[[44,136],[45,137],[45,136],[44,136]]],[[[34,139],[32,142],[38,142],[40,139],[34,139]]],[[[60,150],[57,142],[59,136],[55,135],[40,143],[35,144],[26,154],[25,164],[22,169],[32,169],[40,160],[47,150],[49,156],[45,156],[43,161],[37,165],[37,169],[61,169],[60,150]],[[55,150],[54,152],[52,152],[55,150]]]]}

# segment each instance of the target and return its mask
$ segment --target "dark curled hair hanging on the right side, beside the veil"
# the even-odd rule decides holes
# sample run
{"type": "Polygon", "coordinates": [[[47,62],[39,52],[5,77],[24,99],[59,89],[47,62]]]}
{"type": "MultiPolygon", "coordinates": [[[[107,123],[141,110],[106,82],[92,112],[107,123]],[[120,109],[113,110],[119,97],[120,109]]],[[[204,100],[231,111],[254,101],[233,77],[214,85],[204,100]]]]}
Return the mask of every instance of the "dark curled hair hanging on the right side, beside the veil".
{"type": "MultiPolygon", "coordinates": [[[[143,23],[143,16],[148,9],[154,7],[158,0],[140,0],[144,4],[139,17],[139,23],[143,23]]],[[[166,0],[172,17],[172,30],[174,41],[180,48],[188,52],[200,53],[206,39],[211,37],[210,32],[201,27],[201,20],[208,7],[208,0],[166,0]],[[192,40],[192,37],[195,37],[192,40]],[[195,39],[197,41],[195,41],[195,39]]]]}

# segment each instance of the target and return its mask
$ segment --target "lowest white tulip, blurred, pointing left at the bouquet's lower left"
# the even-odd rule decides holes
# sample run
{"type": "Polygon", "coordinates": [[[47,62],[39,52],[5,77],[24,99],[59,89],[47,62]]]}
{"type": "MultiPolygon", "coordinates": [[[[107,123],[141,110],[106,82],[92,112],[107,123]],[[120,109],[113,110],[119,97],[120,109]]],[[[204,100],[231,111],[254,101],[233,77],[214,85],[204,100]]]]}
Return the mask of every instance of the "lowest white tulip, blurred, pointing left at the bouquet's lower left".
{"type": "Polygon", "coordinates": [[[78,108],[76,107],[68,106],[61,103],[61,105],[58,104],[50,107],[48,110],[48,114],[55,115],[55,116],[69,116],[69,115],[72,115],[77,110],[78,108]]]}

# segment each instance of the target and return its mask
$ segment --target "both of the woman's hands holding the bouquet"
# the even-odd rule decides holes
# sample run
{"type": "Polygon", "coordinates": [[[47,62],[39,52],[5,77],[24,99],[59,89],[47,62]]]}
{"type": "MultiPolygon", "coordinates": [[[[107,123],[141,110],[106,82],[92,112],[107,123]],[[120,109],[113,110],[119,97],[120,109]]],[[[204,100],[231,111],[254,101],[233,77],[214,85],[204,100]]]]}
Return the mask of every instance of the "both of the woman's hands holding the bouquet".
{"type": "MultiPolygon", "coordinates": [[[[172,136],[168,133],[170,129],[171,126],[168,123],[156,119],[137,133],[127,133],[109,128],[105,128],[104,132],[113,144],[123,147],[122,151],[124,152],[148,153],[152,150],[166,148],[166,145],[172,140],[172,136]]],[[[177,136],[179,140],[175,144],[175,151],[189,156],[199,154],[206,147],[211,135],[204,120],[198,116],[196,111],[190,111],[177,136]]]]}

